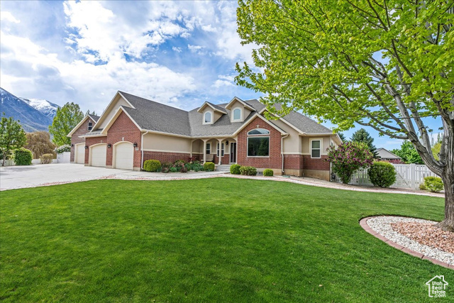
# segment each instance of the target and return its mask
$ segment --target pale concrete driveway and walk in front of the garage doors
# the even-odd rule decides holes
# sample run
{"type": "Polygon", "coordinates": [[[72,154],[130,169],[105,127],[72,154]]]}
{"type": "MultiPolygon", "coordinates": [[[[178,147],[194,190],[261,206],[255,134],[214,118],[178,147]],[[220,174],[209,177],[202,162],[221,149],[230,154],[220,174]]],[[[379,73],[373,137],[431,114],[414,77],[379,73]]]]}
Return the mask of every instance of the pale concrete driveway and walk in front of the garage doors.
{"type": "Polygon", "coordinates": [[[136,172],[133,170],[116,170],[104,167],[84,166],[82,164],[41,164],[30,166],[0,167],[0,190],[37,187],[52,184],[88,181],[96,179],[140,179],[172,180],[209,177],[225,172],[136,172]]]}

